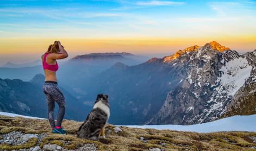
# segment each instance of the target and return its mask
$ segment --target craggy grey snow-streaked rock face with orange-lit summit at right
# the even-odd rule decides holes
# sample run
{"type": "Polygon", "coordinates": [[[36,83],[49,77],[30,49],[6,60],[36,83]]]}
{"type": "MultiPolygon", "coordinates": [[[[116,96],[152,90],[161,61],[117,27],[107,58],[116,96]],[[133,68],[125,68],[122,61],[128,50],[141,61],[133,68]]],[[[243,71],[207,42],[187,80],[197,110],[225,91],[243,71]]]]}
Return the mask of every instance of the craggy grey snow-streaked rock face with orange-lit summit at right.
{"type": "Polygon", "coordinates": [[[195,52],[168,60],[171,66],[183,63],[182,85],[168,92],[164,105],[148,124],[195,124],[220,118],[236,99],[234,95],[248,87],[256,88],[255,81],[250,80],[255,77],[256,56],[250,54],[240,55],[213,41],[195,52]]]}

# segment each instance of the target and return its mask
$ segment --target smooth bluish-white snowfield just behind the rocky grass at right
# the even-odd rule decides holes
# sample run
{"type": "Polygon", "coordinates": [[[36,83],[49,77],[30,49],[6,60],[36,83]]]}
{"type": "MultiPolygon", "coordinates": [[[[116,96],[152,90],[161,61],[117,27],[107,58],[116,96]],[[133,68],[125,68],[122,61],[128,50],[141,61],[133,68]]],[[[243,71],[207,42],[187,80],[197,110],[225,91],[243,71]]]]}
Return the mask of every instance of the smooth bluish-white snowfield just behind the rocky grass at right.
{"type": "Polygon", "coordinates": [[[152,128],[158,130],[195,131],[198,133],[210,133],[215,131],[256,131],[256,115],[232,116],[218,119],[213,122],[194,125],[128,125],[130,128],[152,128]]]}

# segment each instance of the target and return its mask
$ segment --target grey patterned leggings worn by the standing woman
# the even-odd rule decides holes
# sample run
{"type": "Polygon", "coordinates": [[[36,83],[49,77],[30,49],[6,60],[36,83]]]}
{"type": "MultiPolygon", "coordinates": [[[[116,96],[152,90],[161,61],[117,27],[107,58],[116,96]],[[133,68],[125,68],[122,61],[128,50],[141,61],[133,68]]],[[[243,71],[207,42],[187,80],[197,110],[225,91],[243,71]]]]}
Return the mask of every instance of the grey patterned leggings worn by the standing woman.
{"type": "Polygon", "coordinates": [[[63,121],[65,115],[65,97],[61,93],[57,82],[55,81],[45,81],[43,84],[43,93],[46,95],[46,100],[48,104],[48,119],[52,128],[61,127],[61,122],[63,121]],[[54,121],[54,107],[55,102],[59,105],[59,112],[57,116],[57,124],[54,121]]]}

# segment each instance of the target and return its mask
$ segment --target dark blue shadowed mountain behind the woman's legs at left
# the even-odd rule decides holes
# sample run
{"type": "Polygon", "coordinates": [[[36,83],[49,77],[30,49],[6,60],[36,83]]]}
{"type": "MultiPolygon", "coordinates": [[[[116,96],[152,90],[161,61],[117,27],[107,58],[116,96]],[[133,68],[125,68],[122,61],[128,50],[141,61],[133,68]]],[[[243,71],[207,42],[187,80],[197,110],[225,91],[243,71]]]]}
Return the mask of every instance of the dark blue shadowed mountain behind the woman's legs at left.
{"type": "MultiPolygon", "coordinates": [[[[0,79],[0,111],[13,112],[27,116],[47,117],[46,98],[42,91],[45,77],[42,74],[35,75],[30,82],[20,79],[0,79]]],[[[87,115],[89,108],[79,102],[63,87],[60,87],[66,98],[67,119],[84,120],[77,115],[87,115]]],[[[55,109],[57,115],[58,109],[55,109]]]]}

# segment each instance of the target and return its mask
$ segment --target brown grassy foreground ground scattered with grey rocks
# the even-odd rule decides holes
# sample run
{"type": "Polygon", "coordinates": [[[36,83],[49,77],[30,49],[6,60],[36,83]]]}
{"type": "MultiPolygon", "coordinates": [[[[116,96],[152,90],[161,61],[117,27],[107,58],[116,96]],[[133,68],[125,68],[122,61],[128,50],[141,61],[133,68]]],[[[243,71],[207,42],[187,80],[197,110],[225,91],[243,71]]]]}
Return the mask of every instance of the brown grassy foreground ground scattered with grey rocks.
{"type": "Polygon", "coordinates": [[[107,125],[106,138],[78,139],[82,122],[64,120],[67,135],[51,133],[46,119],[0,116],[0,150],[256,150],[256,133],[191,133],[107,125]]]}

